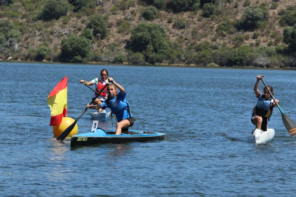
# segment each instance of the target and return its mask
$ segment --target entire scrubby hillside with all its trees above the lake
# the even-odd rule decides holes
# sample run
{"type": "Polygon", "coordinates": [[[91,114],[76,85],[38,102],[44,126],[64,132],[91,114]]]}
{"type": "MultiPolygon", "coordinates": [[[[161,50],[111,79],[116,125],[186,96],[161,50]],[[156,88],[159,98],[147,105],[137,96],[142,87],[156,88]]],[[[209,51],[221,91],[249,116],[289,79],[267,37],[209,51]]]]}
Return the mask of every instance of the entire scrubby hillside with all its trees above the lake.
{"type": "Polygon", "coordinates": [[[0,59],[296,67],[294,0],[0,0],[0,59]]]}

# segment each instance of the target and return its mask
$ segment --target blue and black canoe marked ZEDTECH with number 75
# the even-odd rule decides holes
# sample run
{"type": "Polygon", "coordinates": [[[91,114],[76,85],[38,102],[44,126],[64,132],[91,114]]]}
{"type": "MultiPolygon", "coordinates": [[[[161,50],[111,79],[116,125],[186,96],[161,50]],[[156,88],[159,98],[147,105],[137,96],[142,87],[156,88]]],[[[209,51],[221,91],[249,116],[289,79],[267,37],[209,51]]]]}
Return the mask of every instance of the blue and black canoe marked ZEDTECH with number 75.
{"type": "Polygon", "coordinates": [[[97,128],[95,132],[77,134],[71,137],[70,146],[88,146],[93,144],[120,144],[123,142],[147,142],[150,140],[163,140],[165,133],[153,131],[128,131],[128,134],[115,135],[115,131],[105,131],[97,128]]]}

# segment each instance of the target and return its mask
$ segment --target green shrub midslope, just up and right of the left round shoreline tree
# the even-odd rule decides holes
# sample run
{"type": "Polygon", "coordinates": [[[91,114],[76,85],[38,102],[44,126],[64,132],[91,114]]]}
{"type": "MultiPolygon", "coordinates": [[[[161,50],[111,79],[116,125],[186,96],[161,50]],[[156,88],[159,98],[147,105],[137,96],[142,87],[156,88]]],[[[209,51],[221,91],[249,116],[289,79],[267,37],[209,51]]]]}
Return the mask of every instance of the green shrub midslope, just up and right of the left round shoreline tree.
{"type": "Polygon", "coordinates": [[[104,39],[107,36],[108,30],[106,22],[104,21],[103,17],[99,14],[94,14],[89,23],[86,25],[89,29],[94,28],[93,35],[99,35],[100,39],[104,39]]]}

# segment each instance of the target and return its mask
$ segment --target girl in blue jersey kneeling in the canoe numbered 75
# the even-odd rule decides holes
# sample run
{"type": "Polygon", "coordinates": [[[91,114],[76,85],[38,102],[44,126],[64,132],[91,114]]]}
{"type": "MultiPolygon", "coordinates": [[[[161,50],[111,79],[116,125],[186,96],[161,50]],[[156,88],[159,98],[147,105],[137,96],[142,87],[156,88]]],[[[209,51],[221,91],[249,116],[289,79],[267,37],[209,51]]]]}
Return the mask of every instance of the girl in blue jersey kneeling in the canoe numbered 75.
{"type": "Polygon", "coordinates": [[[128,127],[133,126],[134,118],[129,110],[128,102],[126,101],[126,93],[124,92],[124,88],[116,83],[113,78],[108,78],[108,81],[112,83],[107,86],[107,100],[99,105],[87,104],[86,107],[91,109],[110,108],[111,113],[114,113],[117,119],[115,135],[120,135],[121,133],[128,134],[128,127]]]}

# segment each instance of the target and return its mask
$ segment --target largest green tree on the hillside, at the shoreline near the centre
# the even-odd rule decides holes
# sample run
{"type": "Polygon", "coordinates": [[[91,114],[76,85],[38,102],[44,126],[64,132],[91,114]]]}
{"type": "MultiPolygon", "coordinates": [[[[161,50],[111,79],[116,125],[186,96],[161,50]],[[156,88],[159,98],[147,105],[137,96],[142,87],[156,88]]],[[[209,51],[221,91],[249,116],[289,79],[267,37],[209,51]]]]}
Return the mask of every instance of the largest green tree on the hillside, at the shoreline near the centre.
{"type": "Polygon", "coordinates": [[[163,62],[170,47],[166,42],[167,35],[162,26],[140,23],[131,30],[131,48],[144,54],[146,61],[153,64],[163,62]]]}

